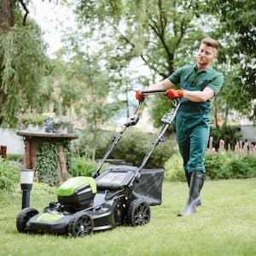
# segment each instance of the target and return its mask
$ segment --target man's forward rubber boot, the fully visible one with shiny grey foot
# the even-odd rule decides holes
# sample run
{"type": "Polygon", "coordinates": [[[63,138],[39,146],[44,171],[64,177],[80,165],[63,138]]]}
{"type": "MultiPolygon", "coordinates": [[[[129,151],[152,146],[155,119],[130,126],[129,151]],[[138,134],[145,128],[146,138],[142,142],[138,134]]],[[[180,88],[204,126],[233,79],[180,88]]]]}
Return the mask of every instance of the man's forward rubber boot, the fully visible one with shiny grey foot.
{"type": "Polygon", "coordinates": [[[202,172],[191,172],[189,183],[189,199],[182,212],[177,216],[189,216],[195,212],[196,207],[201,203],[200,192],[205,180],[205,175],[202,172]]]}

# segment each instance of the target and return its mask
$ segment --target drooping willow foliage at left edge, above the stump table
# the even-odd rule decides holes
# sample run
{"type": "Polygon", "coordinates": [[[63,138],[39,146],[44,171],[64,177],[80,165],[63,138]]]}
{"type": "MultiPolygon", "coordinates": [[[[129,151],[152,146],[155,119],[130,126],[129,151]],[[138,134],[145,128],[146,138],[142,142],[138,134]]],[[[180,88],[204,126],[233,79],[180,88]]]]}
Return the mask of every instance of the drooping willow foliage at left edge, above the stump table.
{"type": "Polygon", "coordinates": [[[45,71],[45,45],[38,26],[14,26],[0,34],[0,120],[15,127],[16,113],[27,108],[42,108],[44,91],[40,80],[45,71]],[[32,93],[35,92],[35,93],[32,93]]]}

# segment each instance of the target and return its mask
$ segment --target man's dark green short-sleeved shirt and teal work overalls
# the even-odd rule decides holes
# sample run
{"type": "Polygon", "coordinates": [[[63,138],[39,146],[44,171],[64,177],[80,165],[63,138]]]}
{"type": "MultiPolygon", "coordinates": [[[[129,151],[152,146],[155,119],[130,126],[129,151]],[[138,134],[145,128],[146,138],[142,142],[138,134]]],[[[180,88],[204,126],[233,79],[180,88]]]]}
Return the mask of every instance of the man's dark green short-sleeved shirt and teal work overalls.
{"type": "MultiPolygon", "coordinates": [[[[209,86],[217,94],[223,82],[223,76],[212,67],[206,72],[198,73],[196,67],[190,65],[178,69],[169,77],[169,80],[173,84],[180,83],[184,90],[203,90],[209,86]]],[[[198,103],[182,98],[180,102],[176,130],[184,171],[204,173],[206,172],[204,157],[210,133],[212,99],[198,103]]]]}

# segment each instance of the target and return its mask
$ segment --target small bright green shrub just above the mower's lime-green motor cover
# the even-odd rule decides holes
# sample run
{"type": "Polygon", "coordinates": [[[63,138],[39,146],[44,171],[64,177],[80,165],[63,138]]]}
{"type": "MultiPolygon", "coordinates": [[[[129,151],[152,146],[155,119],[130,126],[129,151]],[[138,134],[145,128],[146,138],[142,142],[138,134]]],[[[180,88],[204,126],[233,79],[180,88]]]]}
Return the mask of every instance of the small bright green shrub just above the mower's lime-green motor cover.
{"type": "Polygon", "coordinates": [[[88,176],[91,177],[92,172],[96,171],[96,162],[88,157],[73,157],[72,164],[69,168],[69,173],[73,176],[88,176]]]}

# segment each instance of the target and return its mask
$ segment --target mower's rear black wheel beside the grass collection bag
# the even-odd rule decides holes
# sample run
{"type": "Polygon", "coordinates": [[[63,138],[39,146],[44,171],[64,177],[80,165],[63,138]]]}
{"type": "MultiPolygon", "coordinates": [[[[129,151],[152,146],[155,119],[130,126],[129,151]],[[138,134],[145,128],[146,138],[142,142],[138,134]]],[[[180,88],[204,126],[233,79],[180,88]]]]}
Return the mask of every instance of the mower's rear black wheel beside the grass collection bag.
{"type": "Polygon", "coordinates": [[[150,207],[148,203],[141,199],[131,201],[127,212],[127,220],[128,224],[132,226],[148,224],[150,220],[150,207]]]}

